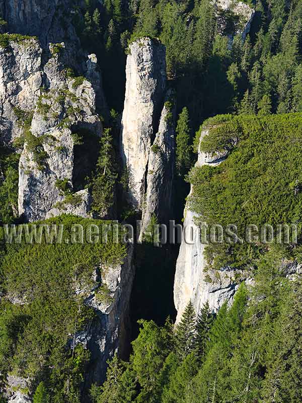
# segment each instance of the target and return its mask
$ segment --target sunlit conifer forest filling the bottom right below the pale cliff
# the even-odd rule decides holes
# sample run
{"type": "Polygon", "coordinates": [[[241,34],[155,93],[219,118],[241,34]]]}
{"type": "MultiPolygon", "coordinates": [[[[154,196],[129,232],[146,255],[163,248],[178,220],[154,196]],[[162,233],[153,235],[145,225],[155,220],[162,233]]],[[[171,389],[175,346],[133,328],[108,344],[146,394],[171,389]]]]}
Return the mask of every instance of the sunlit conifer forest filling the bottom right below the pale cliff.
{"type": "MultiPolygon", "coordinates": [[[[96,403],[301,401],[301,282],[282,273],[272,248],[257,261],[255,283],[216,316],[187,306],[173,331],[141,321],[129,362],[110,362],[93,387],[96,403]]],[[[300,261],[300,260],[299,260],[300,261]]]]}

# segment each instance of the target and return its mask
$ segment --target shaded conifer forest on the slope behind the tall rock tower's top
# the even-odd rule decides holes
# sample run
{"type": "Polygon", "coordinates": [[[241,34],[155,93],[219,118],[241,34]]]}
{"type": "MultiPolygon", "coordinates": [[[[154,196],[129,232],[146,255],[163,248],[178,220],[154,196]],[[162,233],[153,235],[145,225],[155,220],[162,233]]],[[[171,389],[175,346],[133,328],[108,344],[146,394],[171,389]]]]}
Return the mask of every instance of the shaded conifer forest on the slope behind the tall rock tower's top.
{"type": "Polygon", "coordinates": [[[232,49],[228,35],[240,28],[240,21],[230,10],[223,15],[227,23],[221,33],[209,0],[106,0],[101,9],[94,0],[86,0],[86,5],[85,10],[77,10],[75,25],[84,45],[100,55],[105,86],[118,89],[108,94],[110,106],[119,111],[123,53],[129,41],[141,36],[158,37],[165,44],[178,109],[188,107],[194,127],[205,117],[226,111],[301,109],[302,5],[298,0],[250,2],[256,12],[250,34],[244,43],[241,34],[235,35],[232,49]]]}

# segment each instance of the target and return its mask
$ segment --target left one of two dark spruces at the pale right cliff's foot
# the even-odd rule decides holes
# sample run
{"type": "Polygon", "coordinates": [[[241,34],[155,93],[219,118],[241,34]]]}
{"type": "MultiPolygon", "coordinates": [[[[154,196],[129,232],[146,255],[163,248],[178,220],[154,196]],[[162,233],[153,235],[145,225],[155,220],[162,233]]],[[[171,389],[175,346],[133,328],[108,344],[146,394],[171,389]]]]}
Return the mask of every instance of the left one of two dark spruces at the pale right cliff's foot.
{"type": "Polygon", "coordinates": [[[181,361],[195,349],[195,325],[196,314],[192,301],[190,301],[176,327],[175,333],[175,348],[181,361]]]}

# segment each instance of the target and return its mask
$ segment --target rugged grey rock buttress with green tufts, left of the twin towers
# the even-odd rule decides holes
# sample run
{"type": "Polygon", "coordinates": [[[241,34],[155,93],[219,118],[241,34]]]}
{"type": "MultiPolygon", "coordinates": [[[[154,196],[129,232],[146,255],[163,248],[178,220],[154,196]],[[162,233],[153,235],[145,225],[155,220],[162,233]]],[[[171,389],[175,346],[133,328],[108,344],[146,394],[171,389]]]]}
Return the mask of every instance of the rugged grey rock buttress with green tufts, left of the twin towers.
{"type": "MultiPolygon", "coordinates": [[[[68,77],[58,55],[49,59],[41,74],[47,89],[39,89],[31,125],[25,128],[25,146],[19,163],[19,215],[27,221],[36,221],[61,210],[86,217],[88,195],[76,192],[81,189],[76,183],[79,172],[75,172],[75,147],[81,143],[85,146],[86,137],[94,137],[92,142],[97,145],[102,134],[96,114],[96,94],[84,77],[68,77]],[[66,197],[58,181],[66,181],[74,194],[66,197]]],[[[83,148],[82,153],[85,152],[83,148]]]]}

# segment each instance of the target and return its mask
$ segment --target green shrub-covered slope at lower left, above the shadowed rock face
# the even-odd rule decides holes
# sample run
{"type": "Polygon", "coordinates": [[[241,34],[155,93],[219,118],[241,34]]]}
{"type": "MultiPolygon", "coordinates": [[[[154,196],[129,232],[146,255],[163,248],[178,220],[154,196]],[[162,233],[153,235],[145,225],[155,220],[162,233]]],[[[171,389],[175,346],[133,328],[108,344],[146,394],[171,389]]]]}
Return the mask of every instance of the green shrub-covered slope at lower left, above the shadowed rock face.
{"type": "Polygon", "coordinates": [[[63,241],[47,242],[45,231],[39,243],[30,243],[25,231],[21,244],[1,246],[1,381],[8,372],[33,379],[34,388],[43,380],[51,401],[75,403],[89,353],[74,338],[95,314],[84,300],[100,287],[96,267],[121,263],[125,246],[113,243],[111,232],[106,244],[85,237],[83,243],[65,243],[73,225],[85,229],[101,221],[63,215],[37,224],[63,225],[63,241]]]}

